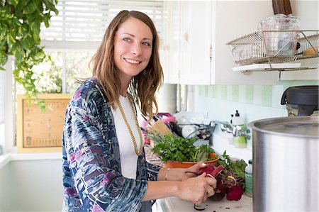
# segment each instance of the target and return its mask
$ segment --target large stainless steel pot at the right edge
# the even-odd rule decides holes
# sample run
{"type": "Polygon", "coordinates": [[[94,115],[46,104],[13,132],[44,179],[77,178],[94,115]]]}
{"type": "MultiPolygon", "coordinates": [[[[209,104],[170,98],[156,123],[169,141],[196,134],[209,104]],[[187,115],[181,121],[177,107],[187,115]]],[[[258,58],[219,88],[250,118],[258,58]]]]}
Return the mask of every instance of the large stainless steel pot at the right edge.
{"type": "Polygon", "coordinates": [[[319,117],[249,123],[254,211],[318,211],[319,117]]]}

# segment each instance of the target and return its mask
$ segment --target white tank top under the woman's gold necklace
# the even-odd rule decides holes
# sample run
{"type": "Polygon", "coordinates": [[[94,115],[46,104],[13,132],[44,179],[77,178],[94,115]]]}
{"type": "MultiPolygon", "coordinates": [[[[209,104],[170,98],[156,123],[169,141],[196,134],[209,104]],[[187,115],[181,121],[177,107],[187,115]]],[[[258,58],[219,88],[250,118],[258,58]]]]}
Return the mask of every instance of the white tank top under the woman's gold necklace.
{"type": "MultiPolygon", "coordinates": [[[[130,106],[130,101],[128,96],[123,97],[120,95],[120,102],[125,113],[126,119],[128,120],[128,124],[135,136],[136,144],[138,145],[138,150],[140,150],[140,135],[138,134],[137,128],[133,113],[133,108],[130,106]]],[[[122,167],[122,175],[123,177],[136,179],[136,169],[138,165],[138,155],[135,153],[135,148],[133,144],[133,140],[130,136],[130,132],[128,131],[128,127],[125,124],[122,113],[118,106],[116,110],[111,108],[115,126],[116,126],[116,135],[118,137],[118,145],[120,147],[120,158],[121,158],[121,167],[122,167]]],[[[144,143],[144,137],[143,143],[144,143]]]]}

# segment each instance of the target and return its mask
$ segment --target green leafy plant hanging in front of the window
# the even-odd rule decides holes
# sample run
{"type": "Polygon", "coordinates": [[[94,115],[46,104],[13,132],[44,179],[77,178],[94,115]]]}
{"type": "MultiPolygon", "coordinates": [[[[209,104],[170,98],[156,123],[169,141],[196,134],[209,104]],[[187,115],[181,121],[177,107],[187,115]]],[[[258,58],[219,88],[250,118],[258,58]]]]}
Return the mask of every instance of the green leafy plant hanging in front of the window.
{"type": "Polygon", "coordinates": [[[32,68],[46,58],[40,46],[40,25],[49,27],[52,13],[58,13],[56,4],[57,0],[0,0],[0,69],[13,55],[13,77],[26,89],[27,99],[39,93],[35,87],[39,79],[32,68]]]}

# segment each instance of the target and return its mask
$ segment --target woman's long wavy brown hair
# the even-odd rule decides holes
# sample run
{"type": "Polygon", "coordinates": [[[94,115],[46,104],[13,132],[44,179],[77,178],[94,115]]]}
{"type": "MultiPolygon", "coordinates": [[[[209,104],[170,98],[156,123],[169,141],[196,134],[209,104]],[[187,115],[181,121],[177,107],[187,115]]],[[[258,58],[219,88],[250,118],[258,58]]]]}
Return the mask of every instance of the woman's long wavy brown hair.
{"type": "Polygon", "coordinates": [[[139,11],[121,11],[111,21],[106,29],[102,43],[90,62],[93,76],[98,79],[103,92],[111,106],[118,99],[121,81],[116,74],[114,63],[114,37],[121,23],[129,17],[137,18],[144,22],[152,31],[152,55],[147,67],[140,74],[133,77],[128,86],[128,92],[133,96],[133,101],[138,104],[144,116],[152,118],[158,112],[155,92],[162,86],[163,71],[159,62],[159,37],[154,23],[145,13],[139,11]],[[155,106],[155,112],[153,112],[155,106]]]}

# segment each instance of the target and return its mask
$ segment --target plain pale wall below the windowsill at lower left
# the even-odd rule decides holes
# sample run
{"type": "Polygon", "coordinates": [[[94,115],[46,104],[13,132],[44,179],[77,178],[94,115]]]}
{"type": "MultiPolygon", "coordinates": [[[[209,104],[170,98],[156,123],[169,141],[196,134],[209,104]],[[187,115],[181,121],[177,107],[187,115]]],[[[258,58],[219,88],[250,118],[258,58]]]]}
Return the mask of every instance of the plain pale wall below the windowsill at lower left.
{"type": "Polygon", "coordinates": [[[0,169],[0,211],[61,211],[62,160],[11,161],[0,169]]]}

